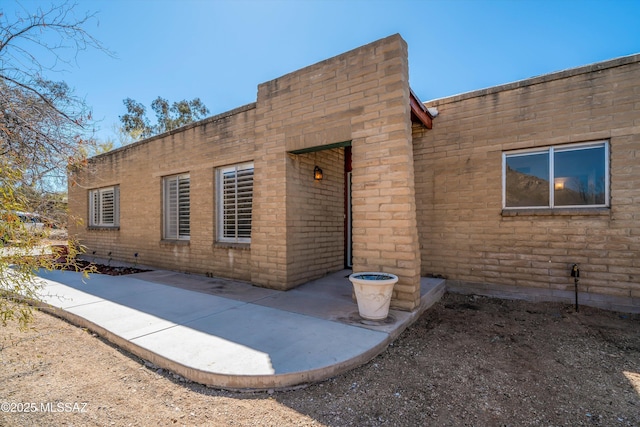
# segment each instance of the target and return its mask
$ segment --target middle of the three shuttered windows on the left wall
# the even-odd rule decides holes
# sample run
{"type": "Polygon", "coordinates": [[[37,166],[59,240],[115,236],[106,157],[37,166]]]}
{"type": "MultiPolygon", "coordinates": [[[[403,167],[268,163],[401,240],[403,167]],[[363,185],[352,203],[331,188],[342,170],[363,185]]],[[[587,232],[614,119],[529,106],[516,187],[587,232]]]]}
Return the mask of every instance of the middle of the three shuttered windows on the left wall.
{"type": "Polygon", "coordinates": [[[163,180],[164,235],[168,240],[189,240],[191,235],[190,180],[188,174],[163,180]]]}

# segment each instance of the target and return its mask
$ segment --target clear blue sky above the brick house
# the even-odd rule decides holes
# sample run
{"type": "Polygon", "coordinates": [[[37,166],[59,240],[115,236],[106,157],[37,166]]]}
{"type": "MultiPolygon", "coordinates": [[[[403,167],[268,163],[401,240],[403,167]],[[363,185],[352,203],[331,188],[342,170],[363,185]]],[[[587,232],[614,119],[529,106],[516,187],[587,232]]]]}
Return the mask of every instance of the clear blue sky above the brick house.
{"type": "MultiPolygon", "coordinates": [[[[52,1],[2,0],[0,9],[52,1]]],[[[59,3],[59,2],[55,2],[59,3]]],[[[129,97],[199,97],[211,115],[260,83],[399,33],[423,101],[640,53],[637,0],[78,0],[115,57],[82,52],[51,76],[86,99],[112,138],[129,97]]],[[[152,116],[152,112],[150,112],[152,116]]],[[[153,119],[153,117],[151,117],[153,119]]]]}

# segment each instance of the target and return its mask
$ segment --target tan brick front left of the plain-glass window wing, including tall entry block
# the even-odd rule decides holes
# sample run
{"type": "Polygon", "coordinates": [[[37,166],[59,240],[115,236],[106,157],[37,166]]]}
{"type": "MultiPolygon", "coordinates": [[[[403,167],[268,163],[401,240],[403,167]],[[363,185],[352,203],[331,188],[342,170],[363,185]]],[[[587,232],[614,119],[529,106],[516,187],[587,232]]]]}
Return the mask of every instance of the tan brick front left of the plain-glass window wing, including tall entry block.
{"type": "Polygon", "coordinates": [[[89,253],[275,289],[345,264],[345,154],[352,145],[354,269],[395,273],[393,305],[420,295],[407,46],[398,35],[258,86],[256,104],[98,156],[70,187],[120,185],[120,228],[71,232],[89,253]],[[336,148],[338,147],[338,148],[336,148]],[[329,149],[330,148],[330,149],[329,149]],[[215,169],[255,166],[250,245],[216,243],[215,169]],[[313,179],[314,166],[325,179],[313,179]],[[189,173],[191,239],[162,240],[162,178],[189,173]]]}

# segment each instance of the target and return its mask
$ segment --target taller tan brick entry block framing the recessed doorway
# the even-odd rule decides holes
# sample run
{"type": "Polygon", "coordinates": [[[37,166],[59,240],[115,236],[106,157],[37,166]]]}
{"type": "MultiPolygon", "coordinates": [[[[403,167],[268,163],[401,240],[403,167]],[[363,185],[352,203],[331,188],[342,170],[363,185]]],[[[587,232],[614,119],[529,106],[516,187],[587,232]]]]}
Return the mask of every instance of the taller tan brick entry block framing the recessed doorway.
{"type": "MultiPolygon", "coordinates": [[[[397,274],[392,304],[417,305],[409,96],[407,46],[398,35],[258,87],[256,175],[262,179],[251,245],[254,283],[286,289],[323,271],[325,260],[313,251],[296,251],[313,215],[299,218],[299,203],[309,199],[305,186],[290,185],[297,171],[288,153],[351,141],[354,271],[397,274]]],[[[332,242],[337,251],[338,240],[332,242]]]]}

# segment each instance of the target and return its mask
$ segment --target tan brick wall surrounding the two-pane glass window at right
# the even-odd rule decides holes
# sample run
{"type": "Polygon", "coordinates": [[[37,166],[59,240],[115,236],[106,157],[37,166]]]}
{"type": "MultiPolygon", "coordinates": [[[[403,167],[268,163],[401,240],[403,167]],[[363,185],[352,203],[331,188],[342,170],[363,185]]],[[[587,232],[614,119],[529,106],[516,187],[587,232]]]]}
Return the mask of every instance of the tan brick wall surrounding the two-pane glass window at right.
{"type": "Polygon", "coordinates": [[[451,289],[640,306],[640,56],[427,103],[433,130],[414,127],[422,273],[451,289]],[[502,213],[502,153],[610,142],[611,208],[502,213]]]}

